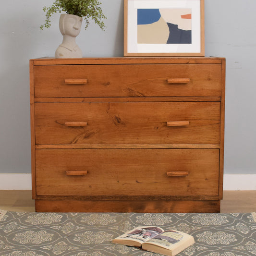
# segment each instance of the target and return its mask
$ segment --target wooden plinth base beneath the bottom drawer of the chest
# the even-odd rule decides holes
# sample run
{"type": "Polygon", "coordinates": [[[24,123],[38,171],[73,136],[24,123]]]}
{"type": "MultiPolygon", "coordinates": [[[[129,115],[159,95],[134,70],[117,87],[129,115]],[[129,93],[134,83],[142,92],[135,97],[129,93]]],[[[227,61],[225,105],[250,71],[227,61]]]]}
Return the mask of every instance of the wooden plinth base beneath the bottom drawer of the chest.
{"type": "Polygon", "coordinates": [[[219,212],[219,200],[36,200],[37,212],[219,212]]]}

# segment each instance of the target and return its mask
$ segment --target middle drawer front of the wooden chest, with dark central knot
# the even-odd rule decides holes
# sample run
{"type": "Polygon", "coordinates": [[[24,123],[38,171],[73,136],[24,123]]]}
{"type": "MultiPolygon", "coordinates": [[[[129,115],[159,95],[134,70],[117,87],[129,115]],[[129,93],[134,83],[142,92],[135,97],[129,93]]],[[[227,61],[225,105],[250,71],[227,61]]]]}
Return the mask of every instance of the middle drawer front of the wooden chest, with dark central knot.
{"type": "Polygon", "coordinates": [[[35,103],[36,144],[219,144],[219,102],[35,103]]]}

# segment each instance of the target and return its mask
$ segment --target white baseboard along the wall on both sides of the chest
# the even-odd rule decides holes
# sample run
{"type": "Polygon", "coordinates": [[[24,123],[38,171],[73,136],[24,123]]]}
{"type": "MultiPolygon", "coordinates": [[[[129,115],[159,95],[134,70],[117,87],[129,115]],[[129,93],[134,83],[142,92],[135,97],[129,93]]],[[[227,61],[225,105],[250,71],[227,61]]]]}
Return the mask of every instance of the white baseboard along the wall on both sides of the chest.
{"type": "MultiPolygon", "coordinates": [[[[0,190],[31,190],[30,173],[0,173],[0,190]]],[[[256,174],[224,174],[223,190],[256,190],[256,174]]]]}

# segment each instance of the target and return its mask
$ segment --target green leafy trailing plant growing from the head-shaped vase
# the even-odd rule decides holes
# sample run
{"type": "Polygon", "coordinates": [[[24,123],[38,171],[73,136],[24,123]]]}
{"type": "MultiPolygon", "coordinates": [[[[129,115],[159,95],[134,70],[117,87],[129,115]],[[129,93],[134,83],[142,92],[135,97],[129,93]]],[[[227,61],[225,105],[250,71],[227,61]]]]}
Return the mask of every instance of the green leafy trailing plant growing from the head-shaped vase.
{"type": "Polygon", "coordinates": [[[99,6],[100,4],[101,2],[98,0],[55,0],[52,6],[43,8],[43,11],[46,12],[46,20],[45,24],[40,26],[40,29],[43,29],[43,27],[48,28],[51,25],[51,15],[62,11],[82,18],[84,17],[85,29],[90,24],[89,18],[91,18],[102,30],[104,30],[105,24],[101,19],[106,19],[106,16],[103,14],[101,7],[99,6]]]}

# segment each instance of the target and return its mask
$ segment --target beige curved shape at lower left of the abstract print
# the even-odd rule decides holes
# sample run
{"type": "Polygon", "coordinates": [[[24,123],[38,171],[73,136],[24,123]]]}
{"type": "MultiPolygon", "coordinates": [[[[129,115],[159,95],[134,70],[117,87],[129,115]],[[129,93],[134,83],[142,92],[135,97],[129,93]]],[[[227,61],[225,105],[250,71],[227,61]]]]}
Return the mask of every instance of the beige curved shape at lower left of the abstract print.
{"type": "Polygon", "coordinates": [[[152,24],[138,25],[138,44],[166,44],[169,33],[169,27],[162,17],[152,24]]]}

